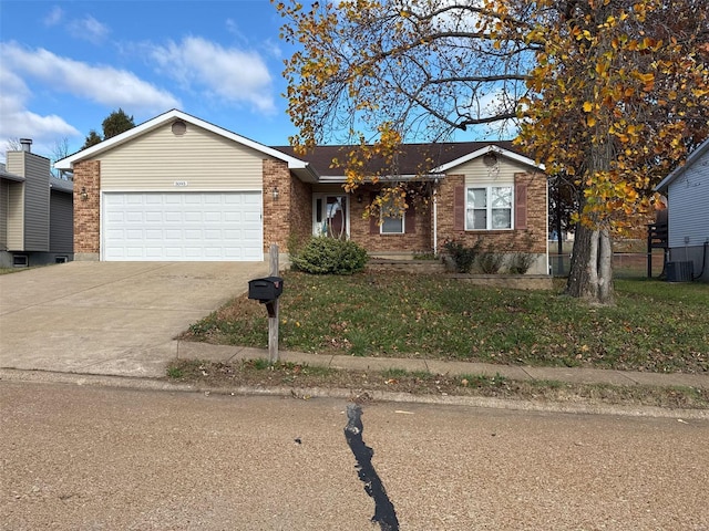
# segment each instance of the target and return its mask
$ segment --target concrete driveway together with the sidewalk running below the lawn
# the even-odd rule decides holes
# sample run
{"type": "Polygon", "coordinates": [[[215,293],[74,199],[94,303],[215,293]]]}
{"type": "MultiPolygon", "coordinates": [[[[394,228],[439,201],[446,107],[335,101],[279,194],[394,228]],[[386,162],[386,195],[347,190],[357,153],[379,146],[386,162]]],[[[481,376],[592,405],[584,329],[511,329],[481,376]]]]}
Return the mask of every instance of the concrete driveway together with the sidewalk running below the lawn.
{"type": "MultiPolygon", "coordinates": [[[[176,341],[189,324],[268,273],[266,262],[70,262],[0,275],[0,368],[156,378],[176,357],[229,362],[268,351],[176,341]]],[[[688,386],[709,374],[505,366],[281,352],[346,369],[500,374],[515,381],[688,386]]]]}

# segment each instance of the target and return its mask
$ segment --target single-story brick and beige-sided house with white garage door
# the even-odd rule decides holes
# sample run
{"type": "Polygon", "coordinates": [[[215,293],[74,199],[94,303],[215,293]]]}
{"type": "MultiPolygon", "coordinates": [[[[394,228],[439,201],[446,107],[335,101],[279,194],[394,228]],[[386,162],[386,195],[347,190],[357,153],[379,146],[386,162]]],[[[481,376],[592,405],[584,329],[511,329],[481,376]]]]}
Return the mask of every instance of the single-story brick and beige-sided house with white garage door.
{"type": "Polygon", "coordinates": [[[408,258],[482,237],[533,253],[530,272],[546,274],[547,185],[534,162],[511,143],[409,145],[397,179],[413,178],[431,149],[436,167],[423,186],[432,200],[383,223],[362,217],[378,188],[348,194],[343,171],[330,167],[341,146],[297,156],[176,110],[55,167],[74,174],[76,259],[263,260],[270,243],[287,253],[289,241],[321,233],[408,258]]]}

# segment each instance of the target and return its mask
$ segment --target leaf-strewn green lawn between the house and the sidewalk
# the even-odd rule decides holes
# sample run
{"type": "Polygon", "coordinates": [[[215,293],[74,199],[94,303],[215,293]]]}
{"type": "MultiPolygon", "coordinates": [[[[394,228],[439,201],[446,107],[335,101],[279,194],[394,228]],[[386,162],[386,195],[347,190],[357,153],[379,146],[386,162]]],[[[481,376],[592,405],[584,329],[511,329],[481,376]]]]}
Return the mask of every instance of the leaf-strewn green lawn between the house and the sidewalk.
{"type": "MultiPolygon", "coordinates": [[[[286,272],[280,347],[653,372],[709,371],[709,284],[617,280],[615,306],[443,275],[286,272]]],[[[183,339],[266,347],[266,311],[246,295],[183,339]]]]}

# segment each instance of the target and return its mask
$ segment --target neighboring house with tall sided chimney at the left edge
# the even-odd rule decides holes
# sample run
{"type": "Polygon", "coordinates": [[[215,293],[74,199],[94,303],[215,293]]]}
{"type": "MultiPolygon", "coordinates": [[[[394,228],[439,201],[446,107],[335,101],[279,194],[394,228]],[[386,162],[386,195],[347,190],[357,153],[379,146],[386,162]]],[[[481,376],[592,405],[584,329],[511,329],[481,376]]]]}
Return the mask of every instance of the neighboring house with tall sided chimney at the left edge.
{"type": "Polygon", "coordinates": [[[51,175],[45,157],[7,153],[0,166],[0,266],[65,262],[73,257],[72,183],[51,175]]]}

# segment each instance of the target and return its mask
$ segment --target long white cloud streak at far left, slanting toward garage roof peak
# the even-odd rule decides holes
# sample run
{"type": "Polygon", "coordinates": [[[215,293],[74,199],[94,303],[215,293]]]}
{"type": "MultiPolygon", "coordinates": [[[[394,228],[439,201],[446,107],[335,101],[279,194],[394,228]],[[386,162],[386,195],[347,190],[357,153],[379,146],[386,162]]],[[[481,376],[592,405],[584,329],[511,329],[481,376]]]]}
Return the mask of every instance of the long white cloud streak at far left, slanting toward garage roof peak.
{"type": "Polygon", "coordinates": [[[91,65],[62,58],[44,49],[27,50],[17,43],[0,43],[3,64],[18,74],[47,83],[53,90],[131,112],[162,112],[179,107],[169,92],[157,88],[126,70],[91,65]]]}

